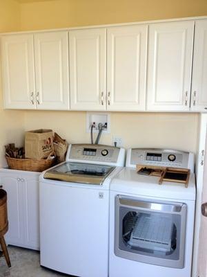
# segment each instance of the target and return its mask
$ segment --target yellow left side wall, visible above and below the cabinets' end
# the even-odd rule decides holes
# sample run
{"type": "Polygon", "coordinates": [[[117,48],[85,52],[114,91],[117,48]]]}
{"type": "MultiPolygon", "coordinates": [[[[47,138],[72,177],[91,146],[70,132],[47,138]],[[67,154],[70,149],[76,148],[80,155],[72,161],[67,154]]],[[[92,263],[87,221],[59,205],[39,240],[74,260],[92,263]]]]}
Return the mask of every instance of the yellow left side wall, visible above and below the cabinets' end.
{"type": "MultiPolygon", "coordinates": [[[[0,32],[14,30],[20,30],[20,6],[13,0],[0,0],[0,32]]],[[[17,145],[21,145],[24,128],[23,111],[3,110],[1,87],[0,77],[0,167],[6,165],[3,145],[11,142],[16,142],[17,145]]]]}

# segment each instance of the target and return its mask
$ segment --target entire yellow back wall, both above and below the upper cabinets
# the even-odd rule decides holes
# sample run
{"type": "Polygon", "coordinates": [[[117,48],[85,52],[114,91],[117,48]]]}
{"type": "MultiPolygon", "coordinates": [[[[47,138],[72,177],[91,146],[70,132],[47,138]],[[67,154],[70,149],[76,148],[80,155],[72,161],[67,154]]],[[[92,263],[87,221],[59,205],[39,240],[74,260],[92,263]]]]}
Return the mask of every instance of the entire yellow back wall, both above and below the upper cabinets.
{"type": "MultiPolygon", "coordinates": [[[[206,0],[55,0],[21,4],[21,30],[64,28],[207,15],[206,0]]],[[[197,150],[198,114],[111,113],[111,134],[124,147],[197,150]]],[[[72,143],[88,143],[86,112],[26,111],[26,129],[52,128],[72,143]]]]}

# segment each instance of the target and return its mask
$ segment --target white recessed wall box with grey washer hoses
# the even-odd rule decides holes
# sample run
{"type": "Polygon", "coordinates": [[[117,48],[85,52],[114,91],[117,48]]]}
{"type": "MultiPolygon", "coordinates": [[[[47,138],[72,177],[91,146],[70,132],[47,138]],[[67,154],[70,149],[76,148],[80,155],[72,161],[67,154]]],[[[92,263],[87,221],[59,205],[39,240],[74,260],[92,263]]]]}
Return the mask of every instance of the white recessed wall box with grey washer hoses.
{"type": "Polygon", "coordinates": [[[99,132],[99,123],[103,125],[103,134],[110,134],[110,114],[87,112],[86,114],[86,132],[90,133],[91,125],[93,133],[99,132]]]}

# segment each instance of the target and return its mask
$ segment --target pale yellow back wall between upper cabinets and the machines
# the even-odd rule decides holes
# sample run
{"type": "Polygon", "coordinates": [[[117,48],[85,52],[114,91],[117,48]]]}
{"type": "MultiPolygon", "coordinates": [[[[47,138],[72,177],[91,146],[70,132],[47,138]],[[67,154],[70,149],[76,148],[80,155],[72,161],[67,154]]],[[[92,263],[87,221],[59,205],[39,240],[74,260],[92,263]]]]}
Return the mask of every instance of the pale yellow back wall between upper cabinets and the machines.
{"type": "MultiPolygon", "coordinates": [[[[119,136],[124,147],[155,147],[197,151],[198,114],[110,113],[111,134],[100,143],[112,144],[119,136]]],[[[84,111],[26,111],[26,129],[52,128],[70,143],[90,143],[84,111]]],[[[94,137],[96,137],[95,134],[94,137]]]]}

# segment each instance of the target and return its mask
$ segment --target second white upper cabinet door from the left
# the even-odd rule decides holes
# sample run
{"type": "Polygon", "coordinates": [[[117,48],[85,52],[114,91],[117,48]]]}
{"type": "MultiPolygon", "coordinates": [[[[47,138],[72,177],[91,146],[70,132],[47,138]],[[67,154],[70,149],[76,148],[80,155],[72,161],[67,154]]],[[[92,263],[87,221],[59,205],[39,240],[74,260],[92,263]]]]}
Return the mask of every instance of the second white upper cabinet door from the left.
{"type": "Polygon", "coordinates": [[[34,34],[37,109],[69,109],[68,32],[34,34]]]}

